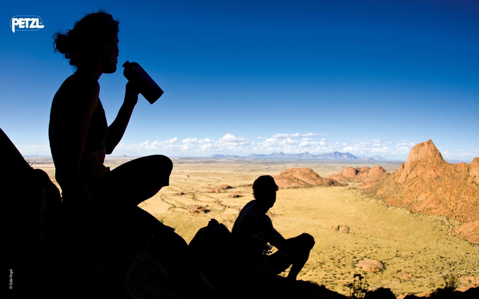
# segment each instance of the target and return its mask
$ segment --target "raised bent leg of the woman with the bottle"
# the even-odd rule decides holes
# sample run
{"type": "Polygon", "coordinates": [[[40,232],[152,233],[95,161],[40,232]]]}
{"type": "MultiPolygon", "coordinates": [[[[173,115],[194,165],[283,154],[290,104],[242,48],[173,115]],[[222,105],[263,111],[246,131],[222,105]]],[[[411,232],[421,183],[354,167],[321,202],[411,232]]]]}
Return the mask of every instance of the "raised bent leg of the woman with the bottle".
{"type": "Polygon", "coordinates": [[[170,184],[173,163],[164,155],[150,155],[122,164],[98,181],[98,200],[115,206],[137,206],[170,184]]]}

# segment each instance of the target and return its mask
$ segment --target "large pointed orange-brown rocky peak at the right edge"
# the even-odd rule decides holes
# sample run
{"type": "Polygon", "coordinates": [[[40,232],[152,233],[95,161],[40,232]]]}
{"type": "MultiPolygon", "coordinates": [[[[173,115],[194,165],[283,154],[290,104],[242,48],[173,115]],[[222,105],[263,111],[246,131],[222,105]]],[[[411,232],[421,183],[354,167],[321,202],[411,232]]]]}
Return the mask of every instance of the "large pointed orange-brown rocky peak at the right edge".
{"type": "MultiPolygon", "coordinates": [[[[361,185],[388,205],[466,222],[457,233],[479,243],[479,158],[446,162],[431,140],[416,144],[391,176],[361,185]]],[[[360,186],[360,187],[361,187],[360,186]]]]}

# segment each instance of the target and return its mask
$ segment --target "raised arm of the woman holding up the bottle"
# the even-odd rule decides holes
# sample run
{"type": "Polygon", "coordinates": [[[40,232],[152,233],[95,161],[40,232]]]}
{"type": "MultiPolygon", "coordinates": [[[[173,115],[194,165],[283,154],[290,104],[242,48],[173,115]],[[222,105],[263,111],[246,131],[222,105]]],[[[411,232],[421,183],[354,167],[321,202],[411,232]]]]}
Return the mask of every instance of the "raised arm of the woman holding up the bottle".
{"type": "Polygon", "coordinates": [[[107,155],[110,155],[113,152],[116,145],[122,139],[126,126],[130,121],[133,108],[135,108],[135,105],[137,104],[138,94],[138,89],[131,82],[126,83],[125,100],[123,105],[121,106],[120,111],[118,111],[118,115],[114,122],[108,127],[108,134],[106,135],[105,140],[107,155]]]}

